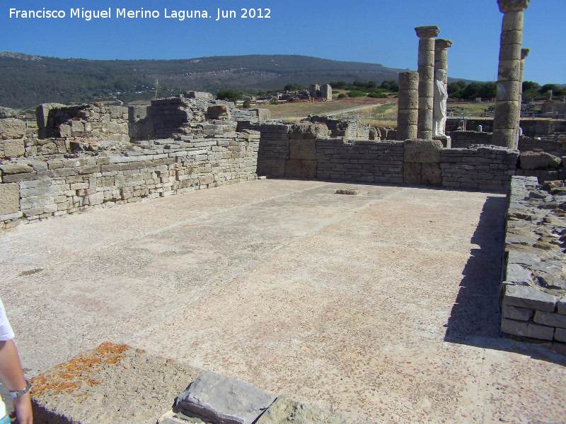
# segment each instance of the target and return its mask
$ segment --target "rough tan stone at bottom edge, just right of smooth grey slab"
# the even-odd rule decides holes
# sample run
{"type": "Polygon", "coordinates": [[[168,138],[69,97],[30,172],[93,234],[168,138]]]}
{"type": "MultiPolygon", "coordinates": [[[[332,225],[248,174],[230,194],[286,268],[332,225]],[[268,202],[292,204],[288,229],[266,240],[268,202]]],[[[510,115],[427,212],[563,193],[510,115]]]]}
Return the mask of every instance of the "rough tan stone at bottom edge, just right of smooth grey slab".
{"type": "Polygon", "coordinates": [[[344,417],[317,406],[299,404],[279,396],[256,424],[346,424],[344,417]]]}

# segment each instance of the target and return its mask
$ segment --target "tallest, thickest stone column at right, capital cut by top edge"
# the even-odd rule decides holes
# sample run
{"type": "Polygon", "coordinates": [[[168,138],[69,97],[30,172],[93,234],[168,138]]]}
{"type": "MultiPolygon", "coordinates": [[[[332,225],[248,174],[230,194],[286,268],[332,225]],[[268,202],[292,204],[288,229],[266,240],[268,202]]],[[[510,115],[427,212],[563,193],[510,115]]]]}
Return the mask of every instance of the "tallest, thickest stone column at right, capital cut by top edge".
{"type": "Polygon", "coordinates": [[[521,44],[523,42],[523,12],[531,0],[497,0],[504,13],[499,49],[497,98],[493,117],[495,146],[515,148],[519,128],[519,78],[521,76],[521,44]]]}

